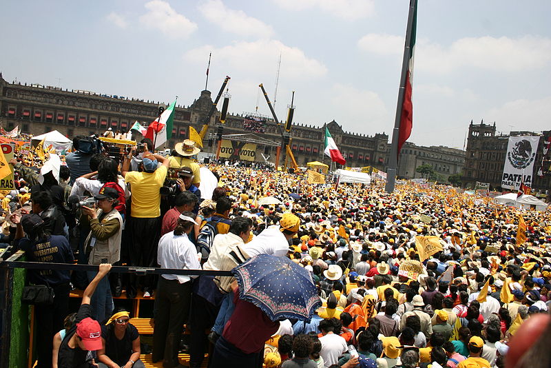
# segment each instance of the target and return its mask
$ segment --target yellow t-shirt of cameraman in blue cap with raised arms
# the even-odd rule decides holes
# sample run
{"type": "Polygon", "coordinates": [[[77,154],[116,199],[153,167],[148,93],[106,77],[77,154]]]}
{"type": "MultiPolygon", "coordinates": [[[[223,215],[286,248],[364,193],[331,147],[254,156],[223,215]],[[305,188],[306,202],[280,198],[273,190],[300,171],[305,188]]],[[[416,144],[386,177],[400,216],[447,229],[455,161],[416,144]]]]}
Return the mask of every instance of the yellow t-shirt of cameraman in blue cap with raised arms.
{"type": "Polygon", "coordinates": [[[165,183],[167,167],[160,166],[155,172],[127,172],[125,181],[132,185],[132,217],[154,218],[160,216],[159,189],[165,183]]]}

